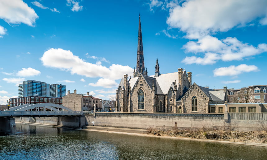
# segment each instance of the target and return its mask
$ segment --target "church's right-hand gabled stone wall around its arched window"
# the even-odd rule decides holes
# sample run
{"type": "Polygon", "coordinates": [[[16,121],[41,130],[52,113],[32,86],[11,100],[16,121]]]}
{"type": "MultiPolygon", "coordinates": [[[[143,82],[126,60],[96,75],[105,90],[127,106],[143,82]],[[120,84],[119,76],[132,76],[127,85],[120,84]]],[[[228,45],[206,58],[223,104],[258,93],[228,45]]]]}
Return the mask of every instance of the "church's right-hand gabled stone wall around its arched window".
{"type": "Polygon", "coordinates": [[[190,90],[183,96],[183,112],[192,112],[192,98],[197,97],[197,111],[198,113],[208,113],[209,97],[194,83],[190,90]]]}

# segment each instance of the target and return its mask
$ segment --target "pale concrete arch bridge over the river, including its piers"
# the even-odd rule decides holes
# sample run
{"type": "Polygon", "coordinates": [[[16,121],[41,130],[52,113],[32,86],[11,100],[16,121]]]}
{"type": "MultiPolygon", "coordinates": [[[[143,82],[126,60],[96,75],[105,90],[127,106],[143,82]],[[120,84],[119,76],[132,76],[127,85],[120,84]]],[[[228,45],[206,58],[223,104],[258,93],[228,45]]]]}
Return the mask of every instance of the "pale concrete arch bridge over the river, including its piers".
{"type": "Polygon", "coordinates": [[[85,124],[82,111],[72,111],[54,103],[24,104],[0,111],[0,132],[16,134],[14,117],[58,117],[58,125],[69,127],[81,127],[85,124]]]}

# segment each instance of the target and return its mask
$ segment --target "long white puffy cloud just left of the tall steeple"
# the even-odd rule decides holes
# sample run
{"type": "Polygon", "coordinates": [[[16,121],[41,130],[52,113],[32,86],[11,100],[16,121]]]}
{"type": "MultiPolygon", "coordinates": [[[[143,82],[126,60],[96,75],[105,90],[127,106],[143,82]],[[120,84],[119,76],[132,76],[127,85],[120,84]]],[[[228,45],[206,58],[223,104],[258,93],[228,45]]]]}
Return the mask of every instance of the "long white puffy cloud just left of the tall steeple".
{"type": "Polygon", "coordinates": [[[85,62],[85,60],[73,55],[70,50],[61,48],[50,48],[40,59],[44,66],[70,71],[71,74],[104,78],[108,82],[112,82],[111,85],[117,84],[114,80],[120,79],[124,74],[132,75],[133,73],[133,68],[129,66],[112,64],[107,68],[106,66],[85,62]]]}

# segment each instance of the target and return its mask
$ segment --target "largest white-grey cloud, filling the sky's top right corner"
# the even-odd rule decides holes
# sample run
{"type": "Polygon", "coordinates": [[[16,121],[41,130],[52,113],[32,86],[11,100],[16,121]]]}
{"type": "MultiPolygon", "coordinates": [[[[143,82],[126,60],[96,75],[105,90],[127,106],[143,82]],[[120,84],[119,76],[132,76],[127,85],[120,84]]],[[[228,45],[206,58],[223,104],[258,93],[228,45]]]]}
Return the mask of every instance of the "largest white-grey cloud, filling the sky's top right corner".
{"type": "Polygon", "coordinates": [[[267,1],[262,0],[191,0],[182,5],[172,1],[167,6],[170,7],[167,24],[187,33],[190,39],[250,25],[256,18],[260,24],[267,24],[267,1]]]}

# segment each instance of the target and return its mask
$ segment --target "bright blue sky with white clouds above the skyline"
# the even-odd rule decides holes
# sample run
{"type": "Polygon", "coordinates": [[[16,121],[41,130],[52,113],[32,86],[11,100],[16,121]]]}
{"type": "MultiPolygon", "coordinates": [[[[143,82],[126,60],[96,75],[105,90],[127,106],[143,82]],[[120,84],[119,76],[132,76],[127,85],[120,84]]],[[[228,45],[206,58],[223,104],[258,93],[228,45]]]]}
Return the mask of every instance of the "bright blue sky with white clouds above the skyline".
{"type": "Polygon", "coordinates": [[[136,66],[138,16],[144,61],[154,75],[185,68],[213,89],[266,85],[265,0],[1,0],[0,104],[18,84],[63,84],[115,97],[136,66]]]}

